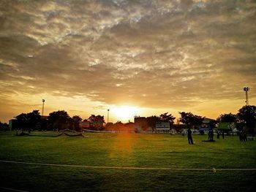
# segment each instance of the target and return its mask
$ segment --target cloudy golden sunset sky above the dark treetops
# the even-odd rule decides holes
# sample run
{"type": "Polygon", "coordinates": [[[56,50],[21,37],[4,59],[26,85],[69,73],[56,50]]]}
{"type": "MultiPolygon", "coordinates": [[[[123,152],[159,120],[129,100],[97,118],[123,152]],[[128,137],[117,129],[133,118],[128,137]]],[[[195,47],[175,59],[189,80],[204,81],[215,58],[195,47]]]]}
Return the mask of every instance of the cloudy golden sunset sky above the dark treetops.
{"type": "Polygon", "coordinates": [[[256,104],[255,0],[0,1],[0,121],[208,118],[256,104]]]}

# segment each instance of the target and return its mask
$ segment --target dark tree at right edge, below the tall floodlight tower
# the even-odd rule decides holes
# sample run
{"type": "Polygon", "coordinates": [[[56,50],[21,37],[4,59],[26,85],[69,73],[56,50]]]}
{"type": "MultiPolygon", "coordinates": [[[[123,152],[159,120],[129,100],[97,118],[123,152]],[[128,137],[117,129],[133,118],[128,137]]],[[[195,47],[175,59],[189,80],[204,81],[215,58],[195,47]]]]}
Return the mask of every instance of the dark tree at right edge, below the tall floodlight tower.
{"type": "Polygon", "coordinates": [[[246,125],[246,131],[249,134],[255,134],[256,125],[256,106],[246,105],[238,110],[237,114],[238,120],[244,122],[246,125]]]}

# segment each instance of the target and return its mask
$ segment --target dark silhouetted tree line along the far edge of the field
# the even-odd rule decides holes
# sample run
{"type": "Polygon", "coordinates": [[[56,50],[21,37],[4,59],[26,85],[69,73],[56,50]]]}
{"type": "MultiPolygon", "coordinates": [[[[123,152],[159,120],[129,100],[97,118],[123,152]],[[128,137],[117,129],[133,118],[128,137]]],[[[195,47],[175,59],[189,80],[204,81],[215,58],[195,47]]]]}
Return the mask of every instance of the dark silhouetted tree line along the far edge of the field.
{"type": "MultiPolygon", "coordinates": [[[[194,115],[192,112],[179,112],[181,118],[178,118],[178,122],[184,124],[187,128],[197,128],[200,126],[205,117],[200,115],[194,115]]],[[[151,128],[155,128],[157,122],[169,122],[170,127],[175,126],[174,120],[176,118],[173,117],[172,114],[168,114],[165,112],[159,116],[152,115],[146,118],[148,126],[151,128]]],[[[15,121],[13,123],[14,128],[22,128],[23,130],[63,130],[69,128],[71,130],[80,131],[80,121],[83,119],[80,118],[79,115],[74,115],[70,117],[68,113],[64,110],[50,112],[48,117],[41,116],[39,110],[33,110],[29,113],[21,113],[15,117],[15,121]]],[[[91,115],[88,119],[83,121],[89,122],[101,122],[99,127],[92,127],[97,130],[103,129],[101,126],[105,123],[104,116],[101,115],[91,115]]],[[[217,123],[222,122],[234,122],[237,125],[238,129],[245,128],[248,134],[254,134],[255,125],[256,125],[256,106],[254,105],[246,105],[241,107],[238,110],[237,114],[222,114],[216,120],[211,120],[211,127],[214,127],[217,123]]],[[[119,123],[120,124],[120,123],[119,123]]],[[[7,124],[0,122],[0,128],[6,128],[7,124]]]]}

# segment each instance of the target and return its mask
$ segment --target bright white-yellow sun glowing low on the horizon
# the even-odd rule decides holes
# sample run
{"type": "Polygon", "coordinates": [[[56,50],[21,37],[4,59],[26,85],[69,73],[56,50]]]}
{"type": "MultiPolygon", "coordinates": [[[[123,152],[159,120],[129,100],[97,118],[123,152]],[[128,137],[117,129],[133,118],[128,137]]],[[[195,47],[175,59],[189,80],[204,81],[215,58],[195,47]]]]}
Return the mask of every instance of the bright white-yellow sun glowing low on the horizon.
{"type": "Polygon", "coordinates": [[[121,121],[133,120],[134,116],[138,114],[138,107],[132,106],[118,106],[113,107],[112,112],[116,118],[121,121]]]}

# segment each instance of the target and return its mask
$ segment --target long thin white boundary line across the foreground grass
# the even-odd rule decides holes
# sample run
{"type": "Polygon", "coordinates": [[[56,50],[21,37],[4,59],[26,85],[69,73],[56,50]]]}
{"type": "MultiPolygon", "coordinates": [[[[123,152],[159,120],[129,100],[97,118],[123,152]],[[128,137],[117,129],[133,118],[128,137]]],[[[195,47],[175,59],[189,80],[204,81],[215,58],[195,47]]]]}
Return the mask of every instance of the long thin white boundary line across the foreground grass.
{"type": "Polygon", "coordinates": [[[167,170],[167,171],[256,171],[256,168],[227,168],[227,169],[215,169],[215,168],[167,168],[167,167],[135,167],[135,166],[86,166],[86,165],[70,165],[70,164],[43,164],[23,161],[5,161],[0,160],[2,163],[10,164],[29,164],[40,166],[66,166],[66,167],[80,167],[89,169],[140,169],[140,170],[167,170]]]}

